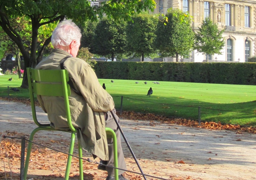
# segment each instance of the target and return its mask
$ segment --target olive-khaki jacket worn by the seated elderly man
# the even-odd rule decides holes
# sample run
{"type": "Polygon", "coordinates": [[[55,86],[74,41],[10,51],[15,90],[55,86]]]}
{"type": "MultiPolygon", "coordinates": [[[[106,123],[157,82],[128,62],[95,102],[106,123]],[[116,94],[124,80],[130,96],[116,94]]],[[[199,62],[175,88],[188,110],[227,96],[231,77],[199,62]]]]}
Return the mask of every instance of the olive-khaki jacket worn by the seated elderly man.
{"type": "MultiPolygon", "coordinates": [[[[36,69],[60,69],[59,61],[70,54],[61,49],[54,49],[43,59],[36,69]]],[[[77,138],[83,149],[108,160],[108,143],[106,141],[104,113],[114,109],[111,95],[99,84],[98,78],[84,60],[70,57],[64,63],[69,77],[74,79],[74,87],[83,96],[71,90],[69,106],[72,124],[79,127],[77,138]]],[[[68,128],[65,103],[62,97],[38,96],[42,109],[47,113],[51,126],[55,129],[68,128]]]]}

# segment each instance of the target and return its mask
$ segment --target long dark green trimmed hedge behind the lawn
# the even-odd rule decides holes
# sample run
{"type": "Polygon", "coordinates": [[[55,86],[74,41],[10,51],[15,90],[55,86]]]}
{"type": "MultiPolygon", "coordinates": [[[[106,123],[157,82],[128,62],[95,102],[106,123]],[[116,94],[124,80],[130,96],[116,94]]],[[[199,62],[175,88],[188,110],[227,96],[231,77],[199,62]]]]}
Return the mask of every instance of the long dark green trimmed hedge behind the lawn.
{"type": "Polygon", "coordinates": [[[99,61],[94,69],[102,79],[256,85],[256,63],[99,61]]]}

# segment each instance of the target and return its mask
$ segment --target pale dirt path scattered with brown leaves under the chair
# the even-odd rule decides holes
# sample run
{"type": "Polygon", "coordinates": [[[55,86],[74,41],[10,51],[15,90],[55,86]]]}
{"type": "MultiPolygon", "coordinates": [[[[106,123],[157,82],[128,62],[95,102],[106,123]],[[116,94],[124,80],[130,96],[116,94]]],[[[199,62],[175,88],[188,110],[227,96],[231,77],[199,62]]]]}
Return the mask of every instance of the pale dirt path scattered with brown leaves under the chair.
{"type": "MultiPolygon", "coordinates": [[[[47,123],[47,116],[40,107],[37,112],[47,123]]],[[[150,121],[121,120],[121,127],[145,174],[168,180],[256,179],[256,134],[153,123],[155,127],[150,121]]],[[[28,139],[35,127],[29,105],[0,100],[0,132],[28,139]]],[[[35,135],[34,141],[68,152],[69,138],[69,133],[42,131],[35,135]]],[[[128,170],[140,173],[124,141],[122,145],[128,170]]],[[[28,178],[63,179],[67,156],[38,145],[32,148],[28,178]]],[[[1,137],[0,149],[0,179],[19,179],[20,140],[1,137]]],[[[84,156],[93,160],[86,152],[84,156]]],[[[94,161],[99,162],[99,159],[94,161]]],[[[78,175],[77,159],[73,158],[70,179],[79,179],[78,175]]],[[[97,170],[97,164],[84,161],[84,179],[105,177],[104,171],[97,170]]],[[[143,179],[129,172],[125,177],[143,179]]]]}

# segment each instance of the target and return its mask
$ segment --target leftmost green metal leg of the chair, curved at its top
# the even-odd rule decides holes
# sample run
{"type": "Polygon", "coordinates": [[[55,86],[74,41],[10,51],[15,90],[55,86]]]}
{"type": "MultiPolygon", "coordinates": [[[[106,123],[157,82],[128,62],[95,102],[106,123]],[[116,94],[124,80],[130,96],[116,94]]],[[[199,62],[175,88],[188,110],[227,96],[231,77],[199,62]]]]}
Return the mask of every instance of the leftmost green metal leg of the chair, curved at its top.
{"type": "MultiPolygon", "coordinates": [[[[40,130],[52,130],[51,128],[47,128],[47,127],[37,127],[35,128],[29,137],[29,141],[33,141],[34,135],[36,132],[40,131],[40,130]]],[[[27,149],[27,155],[26,155],[26,161],[25,161],[25,166],[24,166],[24,180],[27,179],[27,174],[28,174],[28,164],[29,164],[29,159],[30,159],[30,153],[31,153],[31,148],[32,148],[32,144],[31,142],[28,142],[28,149],[27,149]]]]}

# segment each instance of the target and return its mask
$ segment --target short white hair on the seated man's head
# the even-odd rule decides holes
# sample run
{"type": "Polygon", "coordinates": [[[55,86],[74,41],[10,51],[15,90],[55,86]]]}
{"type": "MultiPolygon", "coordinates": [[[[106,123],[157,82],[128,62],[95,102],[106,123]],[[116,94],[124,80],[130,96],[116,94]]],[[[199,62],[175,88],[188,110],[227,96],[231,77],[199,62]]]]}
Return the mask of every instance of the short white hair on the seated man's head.
{"type": "Polygon", "coordinates": [[[72,20],[63,20],[54,29],[51,41],[53,47],[57,45],[69,46],[73,40],[76,41],[76,44],[79,43],[81,37],[79,27],[72,20]]]}

